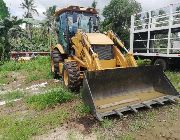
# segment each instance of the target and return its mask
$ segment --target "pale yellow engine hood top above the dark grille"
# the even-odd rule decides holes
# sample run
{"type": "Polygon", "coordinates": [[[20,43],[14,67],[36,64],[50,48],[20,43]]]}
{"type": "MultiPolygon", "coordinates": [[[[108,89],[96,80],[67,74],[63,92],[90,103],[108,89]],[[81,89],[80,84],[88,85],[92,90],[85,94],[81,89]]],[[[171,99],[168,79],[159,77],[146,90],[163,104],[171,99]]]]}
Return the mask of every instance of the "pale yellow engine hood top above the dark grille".
{"type": "Polygon", "coordinates": [[[86,33],[91,45],[113,45],[113,41],[102,33],[86,33]]]}

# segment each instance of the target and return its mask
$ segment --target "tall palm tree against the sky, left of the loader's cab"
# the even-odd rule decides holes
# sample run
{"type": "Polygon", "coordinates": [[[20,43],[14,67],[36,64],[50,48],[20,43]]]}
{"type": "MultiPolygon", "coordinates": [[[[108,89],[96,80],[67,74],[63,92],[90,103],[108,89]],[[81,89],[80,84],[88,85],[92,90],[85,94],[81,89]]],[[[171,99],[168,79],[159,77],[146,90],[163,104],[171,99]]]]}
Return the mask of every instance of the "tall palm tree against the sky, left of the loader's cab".
{"type": "MultiPolygon", "coordinates": [[[[33,13],[36,13],[38,15],[38,11],[36,10],[34,0],[24,0],[24,2],[22,2],[20,5],[22,9],[27,10],[24,15],[25,18],[33,18],[32,16],[33,13]]],[[[28,31],[29,39],[32,39],[31,29],[32,29],[32,24],[27,23],[26,30],[28,31]]]]}

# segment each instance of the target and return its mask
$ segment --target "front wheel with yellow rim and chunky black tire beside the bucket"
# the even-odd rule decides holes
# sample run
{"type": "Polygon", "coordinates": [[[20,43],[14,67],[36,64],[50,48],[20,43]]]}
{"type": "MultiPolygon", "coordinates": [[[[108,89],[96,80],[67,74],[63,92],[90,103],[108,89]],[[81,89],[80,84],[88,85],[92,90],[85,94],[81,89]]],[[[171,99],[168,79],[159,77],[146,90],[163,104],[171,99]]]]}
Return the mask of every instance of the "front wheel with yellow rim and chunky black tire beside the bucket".
{"type": "Polygon", "coordinates": [[[63,82],[72,92],[79,92],[81,80],[80,71],[76,62],[66,62],[63,66],[63,82]]]}

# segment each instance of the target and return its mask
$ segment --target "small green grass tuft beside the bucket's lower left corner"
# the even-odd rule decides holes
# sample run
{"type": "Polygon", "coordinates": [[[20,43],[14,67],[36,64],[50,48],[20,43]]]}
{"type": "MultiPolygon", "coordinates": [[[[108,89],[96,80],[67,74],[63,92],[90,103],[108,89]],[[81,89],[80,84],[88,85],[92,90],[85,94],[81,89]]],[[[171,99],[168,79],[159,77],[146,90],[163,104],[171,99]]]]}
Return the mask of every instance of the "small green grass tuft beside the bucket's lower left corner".
{"type": "Polygon", "coordinates": [[[85,104],[81,103],[81,104],[78,104],[76,107],[75,107],[75,110],[81,115],[81,116],[85,116],[86,114],[89,114],[90,113],[90,107],[89,106],[86,106],[85,104]]]}

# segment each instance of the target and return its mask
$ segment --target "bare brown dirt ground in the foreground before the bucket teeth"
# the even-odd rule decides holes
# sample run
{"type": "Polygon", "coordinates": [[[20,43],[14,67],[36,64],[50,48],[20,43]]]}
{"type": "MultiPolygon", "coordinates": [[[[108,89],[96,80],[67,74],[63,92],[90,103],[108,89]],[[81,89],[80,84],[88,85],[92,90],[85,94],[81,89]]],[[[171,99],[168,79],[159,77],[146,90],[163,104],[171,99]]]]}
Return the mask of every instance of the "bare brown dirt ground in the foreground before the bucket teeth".
{"type": "MultiPolygon", "coordinates": [[[[93,118],[76,120],[64,124],[62,127],[51,130],[49,133],[34,137],[33,140],[180,140],[180,107],[179,105],[168,105],[153,110],[153,120],[142,118],[140,121],[147,123],[144,128],[135,130],[129,126],[133,124],[136,115],[125,116],[116,119],[113,126],[102,128],[93,118]],[[96,129],[96,131],[94,131],[96,129]],[[121,137],[122,136],[122,137],[121,137]]],[[[141,115],[146,115],[141,112],[141,115]]],[[[113,118],[114,119],[114,118],[113,118]]],[[[139,118],[138,118],[139,119],[139,118]]],[[[139,121],[139,120],[138,120],[139,121]]],[[[138,123],[138,122],[137,122],[138,123]]]]}

